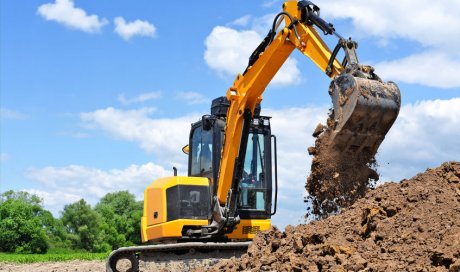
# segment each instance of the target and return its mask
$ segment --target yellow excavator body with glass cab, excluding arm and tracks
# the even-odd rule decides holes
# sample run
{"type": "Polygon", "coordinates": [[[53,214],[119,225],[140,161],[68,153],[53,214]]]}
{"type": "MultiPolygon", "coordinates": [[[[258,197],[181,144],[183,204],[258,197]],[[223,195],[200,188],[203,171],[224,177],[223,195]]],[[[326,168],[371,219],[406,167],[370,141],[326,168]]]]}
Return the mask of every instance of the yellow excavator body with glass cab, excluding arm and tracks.
{"type": "Polygon", "coordinates": [[[260,106],[250,124],[237,189],[240,222],[225,231],[210,225],[216,218],[213,207],[219,205],[217,181],[229,105],[225,97],[215,99],[211,114],[192,124],[189,144],[182,149],[188,154],[188,175],[177,176],[175,171],[174,176],[156,180],[145,190],[142,241],[250,240],[270,227],[276,212],[276,163],[272,164],[276,162],[276,137],[271,134],[270,117],[260,115],[260,106]]]}

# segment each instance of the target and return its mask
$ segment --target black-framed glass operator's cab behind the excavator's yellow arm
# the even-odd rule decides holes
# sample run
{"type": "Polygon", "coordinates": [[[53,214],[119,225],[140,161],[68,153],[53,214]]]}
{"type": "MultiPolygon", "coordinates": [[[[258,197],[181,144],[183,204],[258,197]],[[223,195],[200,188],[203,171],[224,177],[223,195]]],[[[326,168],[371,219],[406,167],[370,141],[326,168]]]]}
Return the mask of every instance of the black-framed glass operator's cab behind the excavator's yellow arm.
{"type": "MultiPolygon", "coordinates": [[[[211,115],[192,124],[188,145],[188,176],[209,179],[211,195],[218,189],[219,166],[224,142],[224,129],[229,101],[226,97],[215,99],[211,115]]],[[[272,142],[270,117],[260,115],[256,108],[248,135],[243,175],[239,183],[238,213],[242,220],[270,219],[272,204],[272,142]]],[[[247,229],[247,228],[246,228],[247,229]]],[[[260,228],[259,228],[260,230],[260,228]]]]}

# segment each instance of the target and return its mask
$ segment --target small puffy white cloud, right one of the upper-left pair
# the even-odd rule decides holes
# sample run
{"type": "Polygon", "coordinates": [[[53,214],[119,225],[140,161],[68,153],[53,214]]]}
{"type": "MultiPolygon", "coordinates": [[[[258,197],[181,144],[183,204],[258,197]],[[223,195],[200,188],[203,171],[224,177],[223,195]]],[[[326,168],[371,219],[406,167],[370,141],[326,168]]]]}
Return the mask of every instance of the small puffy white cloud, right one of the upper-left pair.
{"type": "Polygon", "coordinates": [[[134,36],[155,37],[156,27],[148,21],[135,20],[126,22],[123,17],[116,17],[115,32],[125,40],[129,40],[134,36]]]}

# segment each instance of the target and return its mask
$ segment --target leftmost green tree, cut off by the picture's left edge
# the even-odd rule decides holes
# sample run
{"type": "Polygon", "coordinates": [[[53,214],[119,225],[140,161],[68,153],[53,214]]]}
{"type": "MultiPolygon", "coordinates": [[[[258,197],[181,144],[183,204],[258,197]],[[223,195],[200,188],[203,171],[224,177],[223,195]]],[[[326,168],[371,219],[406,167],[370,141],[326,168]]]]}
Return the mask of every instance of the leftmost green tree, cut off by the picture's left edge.
{"type": "Polygon", "coordinates": [[[0,251],[45,253],[49,248],[46,229],[50,214],[43,210],[41,199],[36,195],[12,190],[3,193],[0,196],[0,251]]]}

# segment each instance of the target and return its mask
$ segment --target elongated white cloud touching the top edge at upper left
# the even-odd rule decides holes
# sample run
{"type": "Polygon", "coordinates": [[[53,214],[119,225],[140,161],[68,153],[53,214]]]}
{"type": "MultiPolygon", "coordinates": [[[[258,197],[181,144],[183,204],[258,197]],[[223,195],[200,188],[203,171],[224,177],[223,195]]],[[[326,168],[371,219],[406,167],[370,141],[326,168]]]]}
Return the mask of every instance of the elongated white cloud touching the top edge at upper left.
{"type": "Polygon", "coordinates": [[[101,31],[108,24],[97,15],[87,15],[86,11],[75,7],[72,0],[55,0],[54,3],[43,4],[38,7],[38,14],[49,21],[56,21],[67,27],[82,30],[88,33],[101,31]]]}

